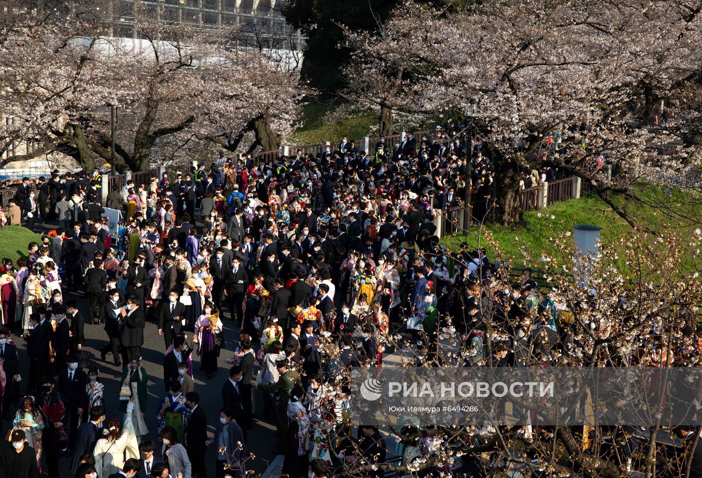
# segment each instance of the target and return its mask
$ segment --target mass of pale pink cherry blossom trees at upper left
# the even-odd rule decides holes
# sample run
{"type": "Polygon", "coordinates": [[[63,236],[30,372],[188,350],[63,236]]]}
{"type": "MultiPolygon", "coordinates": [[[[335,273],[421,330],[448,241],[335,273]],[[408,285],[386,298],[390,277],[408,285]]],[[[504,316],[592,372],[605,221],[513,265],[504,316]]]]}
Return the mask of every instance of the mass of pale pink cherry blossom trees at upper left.
{"type": "Polygon", "coordinates": [[[48,151],[86,169],[110,161],[111,104],[119,107],[119,169],[148,169],[150,160],[208,144],[229,151],[279,146],[302,91],[294,64],[239,48],[234,27],[171,25],[138,4],[131,15],[138,40],[111,36],[110,20],[86,5],[72,15],[5,12],[0,106],[12,123],[0,129],[0,144],[40,146],[3,163],[48,151]]]}

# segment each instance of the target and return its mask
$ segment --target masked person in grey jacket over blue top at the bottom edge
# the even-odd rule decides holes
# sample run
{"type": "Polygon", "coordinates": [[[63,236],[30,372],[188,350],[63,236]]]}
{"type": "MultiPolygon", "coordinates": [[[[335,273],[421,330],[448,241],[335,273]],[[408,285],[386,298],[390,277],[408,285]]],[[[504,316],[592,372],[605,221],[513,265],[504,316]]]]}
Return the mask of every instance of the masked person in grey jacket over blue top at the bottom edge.
{"type": "Polygon", "coordinates": [[[215,478],[225,478],[227,474],[240,477],[241,463],[247,455],[244,434],[237,421],[232,418],[232,409],[220,409],[215,437],[205,442],[206,446],[214,445],[217,450],[215,478]]]}

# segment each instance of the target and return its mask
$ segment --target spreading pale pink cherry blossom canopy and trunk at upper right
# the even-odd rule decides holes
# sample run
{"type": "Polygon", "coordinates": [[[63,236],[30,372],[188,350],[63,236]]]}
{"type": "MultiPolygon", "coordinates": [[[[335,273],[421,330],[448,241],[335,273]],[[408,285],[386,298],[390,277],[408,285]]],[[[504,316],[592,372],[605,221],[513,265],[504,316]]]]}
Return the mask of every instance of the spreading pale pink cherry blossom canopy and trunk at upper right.
{"type": "Polygon", "coordinates": [[[385,132],[392,115],[468,116],[468,133],[495,164],[501,224],[521,219],[524,168],[556,165],[625,195],[642,179],[687,176],[698,151],[699,2],[454,7],[408,3],[377,35],[347,32],[360,71],[346,95],[376,109],[385,132]],[[651,158],[650,146],[681,135],[672,154],[651,158]],[[611,180],[591,167],[601,156],[616,166],[611,180]]]}

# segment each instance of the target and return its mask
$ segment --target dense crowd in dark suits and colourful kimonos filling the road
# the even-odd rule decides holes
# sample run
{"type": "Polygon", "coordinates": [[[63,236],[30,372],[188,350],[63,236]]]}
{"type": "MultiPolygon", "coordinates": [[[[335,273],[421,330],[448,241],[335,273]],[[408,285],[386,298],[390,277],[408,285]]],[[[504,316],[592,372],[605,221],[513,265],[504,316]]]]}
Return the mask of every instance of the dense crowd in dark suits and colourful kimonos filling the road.
{"type": "Polygon", "coordinates": [[[256,453],[247,447],[255,414],[274,420],[273,447],[290,477],[422,456],[419,438],[388,450],[378,428],[352,430],[339,385],[350,367],[382,367],[401,345],[418,364],[439,362],[439,317],[468,364],[518,364],[532,330],[558,332],[555,303],[529,271],[505,292],[491,287],[485,250],[439,244],[437,211],[461,204],[468,187],[473,198],[494,196],[491,162],[471,144],[447,122],[394,144],[380,137],[371,151],[344,137],[317,155],[220,154],[174,181],[128,180],[106,201],[99,172],[25,178],[6,224],[58,226],[0,269],[0,383],[13,443],[0,477],[58,477],[65,454],[79,478],[204,478],[208,447],[216,477],[242,477],[256,453]],[[113,235],[105,207],[122,210],[113,235]],[[486,353],[481,314],[495,307],[523,340],[486,353]],[[147,322],[163,338],[162,382],[150,371],[162,383],[156,410],[141,357],[147,322]],[[227,322],[236,337],[225,337],[227,322]],[[101,360],[123,367],[119,397],[105,396],[88,364],[86,324],[104,325],[101,360]],[[26,383],[11,331],[27,341],[26,383]],[[237,347],[223,359],[227,343],[237,347]],[[207,381],[221,362],[230,371],[216,414],[198,405],[219,385],[193,378],[207,381]]]}

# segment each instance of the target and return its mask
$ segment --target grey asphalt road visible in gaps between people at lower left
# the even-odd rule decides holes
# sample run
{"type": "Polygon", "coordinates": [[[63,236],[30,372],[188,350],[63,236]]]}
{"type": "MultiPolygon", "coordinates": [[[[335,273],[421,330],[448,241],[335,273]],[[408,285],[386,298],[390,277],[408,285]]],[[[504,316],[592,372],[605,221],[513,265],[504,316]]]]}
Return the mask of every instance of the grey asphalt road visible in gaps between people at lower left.
{"type": "MultiPolygon", "coordinates": [[[[39,229],[39,228],[37,228],[39,229]]],[[[70,294],[68,298],[77,299],[79,310],[88,317],[87,301],[82,294],[70,294]]],[[[219,367],[213,378],[209,379],[199,370],[199,357],[193,354],[193,375],[195,381],[195,391],[200,395],[200,407],[203,407],[207,412],[208,420],[208,435],[213,437],[216,425],[219,423],[219,410],[222,407],[221,389],[223,383],[229,378],[230,366],[224,362],[230,358],[234,348],[238,345],[236,342],[239,338],[239,330],[234,330],[233,323],[229,320],[229,314],[225,313],[223,323],[225,325],[225,350],[222,350],[219,359],[219,367]]],[[[159,336],[157,326],[148,322],[151,317],[147,316],[147,324],[144,330],[144,346],[142,348],[142,357],[144,368],[149,375],[149,404],[148,409],[144,413],[144,418],[147,427],[150,430],[149,439],[156,440],[156,412],[161,397],[164,394],[163,380],[163,358],[164,358],[164,339],[159,336]]],[[[102,325],[85,326],[86,346],[84,350],[93,353],[94,357],[91,365],[100,369],[100,380],[105,384],[105,400],[107,402],[107,418],[117,417],[121,420],[121,413],[117,410],[119,404],[119,379],[121,378],[121,367],[116,367],[112,362],[112,355],[107,355],[107,362],[100,360],[100,348],[107,344],[107,335],[102,325]]],[[[26,377],[28,376],[27,350],[25,341],[21,336],[17,336],[18,331],[13,331],[13,338],[19,349],[20,369],[22,374],[22,392],[26,386],[26,377]]],[[[188,334],[188,343],[192,334],[188,334]]],[[[87,372],[87,370],[86,370],[87,372]]],[[[15,409],[16,410],[16,409],[15,409]]],[[[272,454],[275,439],[275,426],[273,418],[265,418],[262,413],[258,412],[253,418],[253,428],[249,431],[247,447],[249,451],[256,454],[256,458],[249,462],[249,470],[254,470],[255,475],[264,472],[269,463],[275,458],[272,454]],[[268,423],[266,422],[268,421],[268,423]]],[[[4,437],[8,430],[8,423],[3,421],[0,436],[4,437]]],[[[7,445],[5,445],[7,446],[7,445]]],[[[3,447],[4,448],[4,447],[3,447]]],[[[216,450],[210,447],[207,451],[206,463],[208,466],[208,476],[214,477],[214,464],[216,460],[216,450]]],[[[61,458],[61,478],[72,477],[68,468],[69,458],[61,458]]],[[[53,477],[51,477],[53,478],[53,477]]]]}

